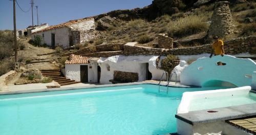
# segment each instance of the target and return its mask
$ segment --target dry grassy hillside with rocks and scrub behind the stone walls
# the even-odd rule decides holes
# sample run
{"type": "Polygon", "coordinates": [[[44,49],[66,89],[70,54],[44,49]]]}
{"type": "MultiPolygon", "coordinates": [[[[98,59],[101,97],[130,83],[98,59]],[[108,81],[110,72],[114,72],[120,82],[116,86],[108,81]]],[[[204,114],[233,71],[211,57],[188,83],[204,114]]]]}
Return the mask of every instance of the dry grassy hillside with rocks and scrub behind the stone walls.
{"type": "MultiPolygon", "coordinates": [[[[101,14],[95,16],[97,29],[101,32],[101,36],[82,44],[82,46],[137,41],[139,42],[137,46],[154,48],[154,44],[158,42],[157,35],[159,33],[167,33],[169,37],[177,41],[202,39],[193,44],[181,44],[182,46],[179,47],[199,46],[209,43],[210,40],[205,36],[211,23],[214,3],[215,1],[195,4],[192,1],[187,3],[186,1],[155,0],[152,5],[142,9],[117,10],[101,14]],[[167,5],[168,7],[176,7],[167,9],[167,5]],[[173,11],[173,9],[176,10],[173,11]],[[151,14],[153,11],[157,12],[151,14]]],[[[255,7],[256,3],[253,1],[230,1],[235,31],[226,39],[255,34],[255,7]]]]}

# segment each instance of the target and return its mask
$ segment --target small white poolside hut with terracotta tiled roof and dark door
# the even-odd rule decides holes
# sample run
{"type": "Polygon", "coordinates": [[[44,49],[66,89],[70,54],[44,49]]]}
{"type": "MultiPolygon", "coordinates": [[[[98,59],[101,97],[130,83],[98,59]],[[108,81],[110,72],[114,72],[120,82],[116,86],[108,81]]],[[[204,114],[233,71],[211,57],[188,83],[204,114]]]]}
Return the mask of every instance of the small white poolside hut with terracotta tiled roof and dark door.
{"type": "Polygon", "coordinates": [[[65,62],[65,74],[68,79],[87,82],[98,82],[97,59],[72,54],[65,62]]]}

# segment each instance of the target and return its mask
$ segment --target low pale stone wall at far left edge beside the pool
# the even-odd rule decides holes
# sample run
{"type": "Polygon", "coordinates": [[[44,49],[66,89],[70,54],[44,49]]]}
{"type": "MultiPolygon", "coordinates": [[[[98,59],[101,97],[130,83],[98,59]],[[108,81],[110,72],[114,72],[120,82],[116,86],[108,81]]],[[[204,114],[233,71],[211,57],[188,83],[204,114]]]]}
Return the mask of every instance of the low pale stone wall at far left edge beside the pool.
{"type": "Polygon", "coordinates": [[[0,91],[8,91],[8,86],[6,85],[10,80],[12,80],[17,75],[16,71],[10,71],[2,76],[0,76],[0,91]]]}

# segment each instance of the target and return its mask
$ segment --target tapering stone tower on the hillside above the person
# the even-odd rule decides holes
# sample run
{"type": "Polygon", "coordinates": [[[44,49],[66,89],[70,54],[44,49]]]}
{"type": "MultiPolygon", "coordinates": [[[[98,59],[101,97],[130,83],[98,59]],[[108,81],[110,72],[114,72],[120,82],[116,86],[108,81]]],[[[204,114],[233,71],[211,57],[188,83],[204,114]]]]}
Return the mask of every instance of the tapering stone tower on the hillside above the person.
{"type": "Polygon", "coordinates": [[[212,39],[213,36],[224,38],[232,34],[233,31],[233,20],[229,9],[229,2],[217,2],[215,4],[214,13],[211,16],[208,38],[212,39]]]}

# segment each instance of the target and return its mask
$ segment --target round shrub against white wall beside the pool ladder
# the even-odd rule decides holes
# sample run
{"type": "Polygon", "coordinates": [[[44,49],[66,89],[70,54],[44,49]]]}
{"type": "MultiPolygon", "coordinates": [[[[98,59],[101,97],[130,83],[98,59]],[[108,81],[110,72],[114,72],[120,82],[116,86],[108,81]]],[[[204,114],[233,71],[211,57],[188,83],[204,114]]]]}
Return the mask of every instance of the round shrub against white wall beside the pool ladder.
{"type": "Polygon", "coordinates": [[[179,58],[175,55],[167,55],[161,61],[161,69],[168,72],[169,74],[172,73],[175,66],[179,64],[179,58]]]}

